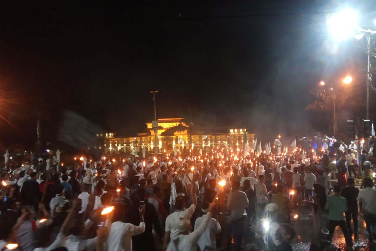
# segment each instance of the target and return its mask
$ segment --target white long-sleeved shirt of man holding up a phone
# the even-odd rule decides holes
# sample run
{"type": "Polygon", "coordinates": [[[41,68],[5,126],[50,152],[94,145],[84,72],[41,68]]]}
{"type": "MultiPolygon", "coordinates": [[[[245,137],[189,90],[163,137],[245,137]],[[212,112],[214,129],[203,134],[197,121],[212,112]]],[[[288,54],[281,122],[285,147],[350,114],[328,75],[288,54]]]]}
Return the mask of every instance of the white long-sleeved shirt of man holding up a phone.
{"type": "Polygon", "coordinates": [[[139,226],[115,221],[111,224],[110,233],[106,241],[108,251],[132,251],[132,236],[145,231],[145,222],[139,226]]]}

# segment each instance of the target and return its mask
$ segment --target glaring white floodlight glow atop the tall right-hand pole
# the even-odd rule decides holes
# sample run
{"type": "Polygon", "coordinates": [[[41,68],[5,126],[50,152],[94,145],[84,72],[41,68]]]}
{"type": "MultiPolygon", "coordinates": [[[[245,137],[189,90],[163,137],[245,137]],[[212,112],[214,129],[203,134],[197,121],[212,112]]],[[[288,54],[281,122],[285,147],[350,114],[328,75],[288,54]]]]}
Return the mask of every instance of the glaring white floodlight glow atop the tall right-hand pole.
{"type": "Polygon", "coordinates": [[[359,29],[358,14],[352,9],[344,9],[329,17],[326,24],[334,40],[346,40],[354,37],[356,30],[359,29]]]}

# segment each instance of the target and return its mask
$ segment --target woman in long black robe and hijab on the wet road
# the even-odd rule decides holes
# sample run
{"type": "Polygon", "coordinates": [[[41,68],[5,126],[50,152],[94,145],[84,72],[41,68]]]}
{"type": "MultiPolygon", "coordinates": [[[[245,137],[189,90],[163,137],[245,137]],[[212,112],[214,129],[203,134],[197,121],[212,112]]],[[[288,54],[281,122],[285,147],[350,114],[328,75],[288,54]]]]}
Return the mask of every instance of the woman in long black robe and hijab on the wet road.
{"type": "Polygon", "coordinates": [[[313,185],[313,192],[315,194],[313,198],[313,237],[312,244],[317,248],[322,246],[321,239],[324,239],[323,234],[321,233],[322,228],[327,228],[326,224],[326,214],[325,214],[325,204],[326,204],[326,194],[325,188],[320,184],[313,185]]]}

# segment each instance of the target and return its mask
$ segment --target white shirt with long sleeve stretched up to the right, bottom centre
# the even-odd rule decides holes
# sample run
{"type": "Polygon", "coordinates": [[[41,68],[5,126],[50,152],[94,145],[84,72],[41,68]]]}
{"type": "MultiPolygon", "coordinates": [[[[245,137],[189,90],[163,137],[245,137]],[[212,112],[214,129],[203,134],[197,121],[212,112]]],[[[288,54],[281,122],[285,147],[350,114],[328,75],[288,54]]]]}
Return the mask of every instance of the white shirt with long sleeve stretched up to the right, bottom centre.
{"type": "Polygon", "coordinates": [[[174,241],[170,241],[167,246],[167,251],[197,251],[197,242],[205,232],[206,227],[208,226],[210,215],[203,216],[204,219],[202,224],[197,227],[192,233],[190,234],[179,234],[176,236],[178,238],[177,245],[174,241]]]}

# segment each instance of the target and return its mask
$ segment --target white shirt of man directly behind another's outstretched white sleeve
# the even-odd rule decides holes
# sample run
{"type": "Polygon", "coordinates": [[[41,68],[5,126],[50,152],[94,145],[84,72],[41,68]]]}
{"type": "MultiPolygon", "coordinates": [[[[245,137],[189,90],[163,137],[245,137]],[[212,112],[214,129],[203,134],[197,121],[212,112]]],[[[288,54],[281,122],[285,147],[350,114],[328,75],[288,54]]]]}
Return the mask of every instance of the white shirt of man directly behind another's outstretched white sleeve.
{"type": "MultiPolygon", "coordinates": [[[[194,224],[194,231],[202,225],[202,222],[205,220],[205,216],[201,216],[196,219],[194,224]]],[[[215,234],[219,234],[221,232],[221,225],[219,222],[214,219],[210,218],[208,222],[208,227],[206,227],[205,232],[200,236],[197,245],[199,245],[200,250],[216,250],[217,243],[215,242],[215,234]],[[205,248],[206,247],[206,248],[205,248]]]]}

